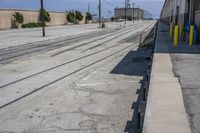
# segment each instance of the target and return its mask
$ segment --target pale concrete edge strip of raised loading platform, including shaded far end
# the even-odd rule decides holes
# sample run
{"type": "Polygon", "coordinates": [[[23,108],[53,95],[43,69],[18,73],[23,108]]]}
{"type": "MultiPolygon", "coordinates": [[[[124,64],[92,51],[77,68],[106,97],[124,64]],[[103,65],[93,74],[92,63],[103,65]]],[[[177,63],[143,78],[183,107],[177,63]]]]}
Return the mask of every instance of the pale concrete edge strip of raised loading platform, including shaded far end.
{"type": "MultiPolygon", "coordinates": [[[[159,23],[143,133],[191,133],[182,84],[174,74],[182,64],[178,66],[174,62],[178,56],[193,54],[195,48],[183,44],[175,48],[168,29],[168,26],[159,23]]],[[[191,74],[189,69],[181,70],[191,74]]]]}

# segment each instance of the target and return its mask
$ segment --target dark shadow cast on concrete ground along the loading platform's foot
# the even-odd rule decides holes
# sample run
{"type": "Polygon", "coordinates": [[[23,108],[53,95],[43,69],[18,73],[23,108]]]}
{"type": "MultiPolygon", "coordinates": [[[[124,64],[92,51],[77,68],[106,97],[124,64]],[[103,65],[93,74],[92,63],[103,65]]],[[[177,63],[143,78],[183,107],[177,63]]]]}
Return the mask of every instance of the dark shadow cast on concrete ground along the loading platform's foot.
{"type": "Polygon", "coordinates": [[[138,109],[141,101],[143,100],[143,88],[145,84],[145,76],[149,64],[151,63],[152,48],[138,48],[136,51],[130,51],[121,62],[111,71],[111,74],[121,74],[128,76],[141,76],[143,79],[140,81],[140,88],[137,93],[137,100],[133,101],[132,107],[133,115],[131,121],[127,121],[124,132],[136,133],[138,132],[138,109]]]}

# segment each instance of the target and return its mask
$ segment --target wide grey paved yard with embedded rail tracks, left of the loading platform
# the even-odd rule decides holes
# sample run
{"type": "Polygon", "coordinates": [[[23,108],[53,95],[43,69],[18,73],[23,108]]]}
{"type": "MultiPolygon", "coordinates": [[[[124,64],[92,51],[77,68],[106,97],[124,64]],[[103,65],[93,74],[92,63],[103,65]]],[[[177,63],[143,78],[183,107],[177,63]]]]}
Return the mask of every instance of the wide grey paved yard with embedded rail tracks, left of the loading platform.
{"type": "Polygon", "coordinates": [[[111,23],[105,30],[82,25],[39,42],[29,34],[9,42],[14,33],[5,31],[0,132],[134,133],[134,105],[148,61],[133,59],[150,56],[138,49],[139,35],[155,23],[111,23]]]}

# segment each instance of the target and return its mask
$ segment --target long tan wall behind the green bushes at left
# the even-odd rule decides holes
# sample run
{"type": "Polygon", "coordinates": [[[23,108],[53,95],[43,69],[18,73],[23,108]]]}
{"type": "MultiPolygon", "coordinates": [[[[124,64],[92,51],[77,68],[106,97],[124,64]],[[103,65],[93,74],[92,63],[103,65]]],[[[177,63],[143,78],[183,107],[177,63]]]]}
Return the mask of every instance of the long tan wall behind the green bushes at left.
{"type": "MultiPolygon", "coordinates": [[[[24,23],[38,22],[38,11],[34,10],[16,10],[16,9],[0,9],[0,29],[11,29],[13,28],[13,14],[20,12],[24,16],[24,23]]],[[[64,12],[49,12],[51,16],[51,22],[47,23],[47,26],[57,26],[67,24],[66,16],[64,12]]],[[[85,22],[85,17],[83,21],[85,22]]]]}

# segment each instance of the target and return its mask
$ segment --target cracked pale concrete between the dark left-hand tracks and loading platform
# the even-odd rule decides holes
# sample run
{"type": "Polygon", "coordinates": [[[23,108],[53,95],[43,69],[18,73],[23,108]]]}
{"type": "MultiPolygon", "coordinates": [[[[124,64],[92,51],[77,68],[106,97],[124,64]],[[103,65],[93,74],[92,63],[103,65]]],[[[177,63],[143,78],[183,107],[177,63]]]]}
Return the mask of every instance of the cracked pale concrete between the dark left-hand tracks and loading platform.
{"type": "MultiPolygon", "coordinates": [[[[150,30],[154,24],[155,21],[144,21],[130,27],[143,31],[148,28],[150,30]]],[[[119,31],[124,34],[116,40],[109,41],[110,38],[118,36],[118,34],[113,34],[104,40],[85,44],[84,50],[99,45],[103,41],[109,41],[86,52],[78,48],[51,56],[55,49],[20,58],[21,62],[18,63],[1,64],[0,72],[4,77],[1,77],[0,85],[8,85],[0,89],[1,99],[4,99],[0,103],[12,101],[40,86],[46,84],[47,86],[1,108],[0,132],[121,133],[134,131],[136,123],[133,118],[135,111],[133,104],[138,100],[138,89],[141,87],[141,80],[149,60],[137,62],[133,58],[148,53],[148,49],[138,49],[138,38],[116,45],[120,40],[129,36],[134,37],[137,33],[129,27],[119,31]],[[113,47],[104,50],[110,46],[113,47]],[[121,51],[121,49],[124,50],[121,51]],[[70,60],[99,50],[103,52],[63,65],[70,60]],[[105,58],[117,51],[120,52],[105,58]],[[93,62],[96,63],[82,69],[93,62]],[[59,67],[53,69],[52,67],[55,66],[59,67]],[[47,69],[50,70],[46,71],[47,69]],[[79,69],[81,71],[78,71],[79,69]],[[49,82],[72,72],[75,73],[48,85],[49,82]],[[27,77],[29,75],[31,76],[27,77]],[[23,79],[23,77],[26,78],[23,79]],[[133,125],[126,129],[128,122],[132,122],[133,125]]],[[[82,43],[93,39],[86,38],[82,43]]],[[[79,44],[81,42],[71,45],[79,44]]],[[[59,48],[57,52],[67,47],[59,48]]]]}

